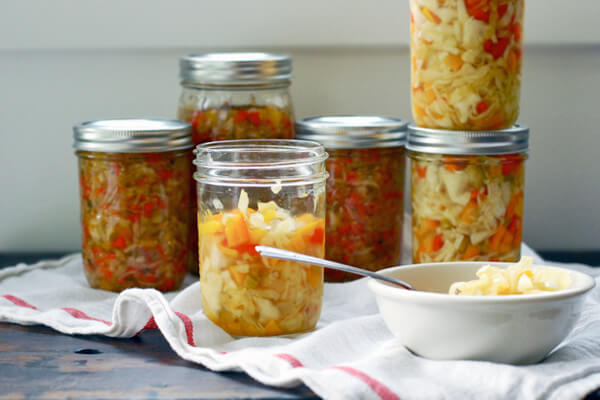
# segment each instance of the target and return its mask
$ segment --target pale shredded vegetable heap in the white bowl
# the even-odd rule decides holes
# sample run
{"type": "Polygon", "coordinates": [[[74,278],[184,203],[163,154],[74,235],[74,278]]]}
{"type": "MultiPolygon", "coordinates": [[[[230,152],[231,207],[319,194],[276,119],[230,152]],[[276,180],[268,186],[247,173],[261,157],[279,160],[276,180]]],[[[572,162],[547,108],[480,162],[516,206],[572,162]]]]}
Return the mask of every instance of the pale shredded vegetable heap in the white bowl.
{"type": "Polygon", "coordinates": [[[517,264],[506,268],[485,265],[477,271],[477,278],[455,282],[449,294],[460,296],[490,296],[508,294],[537,294],[556,292],[571,287],[571,277],[565,270],[551,267],[533,267],[531,257],[523,257],[517,264]]]}

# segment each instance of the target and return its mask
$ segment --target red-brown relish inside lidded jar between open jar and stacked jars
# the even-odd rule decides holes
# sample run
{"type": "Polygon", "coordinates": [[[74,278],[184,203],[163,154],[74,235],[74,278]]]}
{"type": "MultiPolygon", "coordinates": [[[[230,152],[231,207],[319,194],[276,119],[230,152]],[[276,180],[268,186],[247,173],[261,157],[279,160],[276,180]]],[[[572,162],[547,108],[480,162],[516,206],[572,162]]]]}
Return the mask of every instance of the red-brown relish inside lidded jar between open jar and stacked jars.
{"type": "MultiPolygon", "coordinates": [[[[376,271],[402,262],[404,148],[329,150],[328,260],[376,271]]],[[[326,270],[328,281],[358,276],[326,270]]]]}

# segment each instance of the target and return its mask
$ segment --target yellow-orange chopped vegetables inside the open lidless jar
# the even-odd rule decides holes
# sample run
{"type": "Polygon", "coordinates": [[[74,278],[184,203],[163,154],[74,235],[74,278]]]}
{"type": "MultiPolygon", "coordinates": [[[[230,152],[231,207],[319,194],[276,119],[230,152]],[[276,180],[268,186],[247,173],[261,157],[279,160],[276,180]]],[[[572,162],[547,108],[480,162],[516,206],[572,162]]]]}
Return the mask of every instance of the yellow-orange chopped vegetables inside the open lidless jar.
{"type": "Polygon", "coordinates": [[[292,216],[274,201],[198,214],[200,284],[204,312],[237,336],[273,336],[314,328],[321,312],[323,270],[261,257],[256,245],[323,257],[325,221],[292,216]]]}

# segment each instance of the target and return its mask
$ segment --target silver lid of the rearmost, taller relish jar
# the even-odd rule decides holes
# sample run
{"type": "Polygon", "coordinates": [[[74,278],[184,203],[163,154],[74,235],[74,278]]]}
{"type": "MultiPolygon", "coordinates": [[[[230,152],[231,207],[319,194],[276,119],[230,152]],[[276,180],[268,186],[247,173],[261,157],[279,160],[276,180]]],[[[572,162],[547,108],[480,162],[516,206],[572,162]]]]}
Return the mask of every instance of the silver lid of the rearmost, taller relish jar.
{"type": "Polygon", "coordinates": [[[292,59],[272,53],[189,54],[179,60],[184,82],[249,85],[284,83],[292,77],[292,59]]]}

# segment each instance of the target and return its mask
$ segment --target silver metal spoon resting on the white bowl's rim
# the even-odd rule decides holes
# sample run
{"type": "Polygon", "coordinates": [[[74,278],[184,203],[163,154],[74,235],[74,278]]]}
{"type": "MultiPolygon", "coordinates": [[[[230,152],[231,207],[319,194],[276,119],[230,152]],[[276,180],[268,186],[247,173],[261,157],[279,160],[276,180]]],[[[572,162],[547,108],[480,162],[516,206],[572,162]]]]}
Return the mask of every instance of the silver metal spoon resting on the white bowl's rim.
{"type": "Polygon", "coordinates": [[[395,285],[398,285],[404,289],[414,290],[412,285],[410,285],[406,282],[403,282],[399,279],[391,278],[387,275],[378,274],[376,272],[371,272],[371,271],[367,271],[364,269],[351,267],[346,264],[340,264],[340,263],[337,263],[334,261],[325,260],[323,258],[307,256],[305,254],[295,253],[293,251],[288,251],[288,250],[281,250],[281,249],[277,249],[275,247],[269,247],[269,246],[255,246],[254,249],[261,256],[277,258],[279,260],[297,261],[297,262],[302,262],[302,263],[306,263],[306,264],[318,265],[323,268],[337,269],[337,270],[344,271],[344,272],[350,272],[351,274],[368,276],[368,277],[374,278],[374,279],[380,279],[382,281],[386,281],[386,282],[390,282],[395,285]]]}

